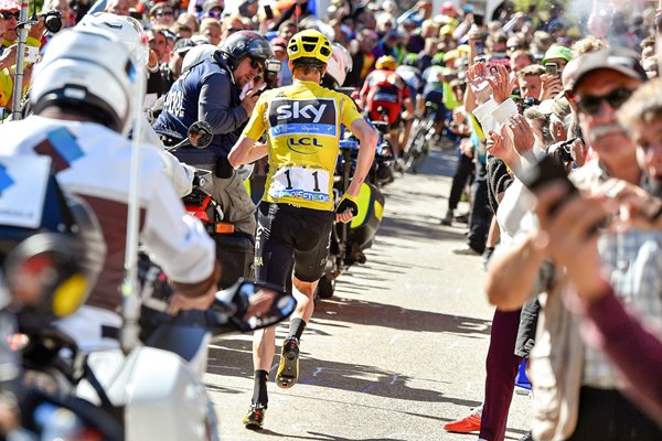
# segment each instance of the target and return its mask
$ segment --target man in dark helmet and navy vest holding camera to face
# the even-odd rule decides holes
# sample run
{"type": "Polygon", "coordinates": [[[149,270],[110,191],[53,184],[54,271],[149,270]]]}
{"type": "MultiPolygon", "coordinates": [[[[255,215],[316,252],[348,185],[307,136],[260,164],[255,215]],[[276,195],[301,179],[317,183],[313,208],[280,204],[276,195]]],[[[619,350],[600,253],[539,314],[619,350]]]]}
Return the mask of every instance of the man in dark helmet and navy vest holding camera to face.
{"type": "Polygon", "coordinates": [[[212,126],[214,139],[209,148],[182,148],[175,155],[182,162],[215,172],[212,196],[225,219],[235,224],[235,230],[249,237],[255,235],[255,204],[227,162],[227,154],[257,103],[265,62],[271,57],[269,43],[257,32],[232,34],[211,57],[192,66],[172,85],[153,126],[170,138],[167,144],[184,139],[196,120],[212,126]],[[241,99],[242,89],[250,85],[253,90],[241,99]]]}

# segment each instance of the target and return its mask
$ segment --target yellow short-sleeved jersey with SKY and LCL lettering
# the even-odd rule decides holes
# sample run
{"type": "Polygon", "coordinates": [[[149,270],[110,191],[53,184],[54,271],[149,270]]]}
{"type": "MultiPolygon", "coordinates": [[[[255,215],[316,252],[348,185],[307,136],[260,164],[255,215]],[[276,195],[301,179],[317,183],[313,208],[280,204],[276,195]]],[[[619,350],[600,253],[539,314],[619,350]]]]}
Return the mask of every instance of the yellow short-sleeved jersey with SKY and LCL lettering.
{"type": "Polygon", "coordinates": [[[266,90],[244,135],[258,140],[267,130],[269,174],[263,201],[333,211],[333,172],[340,123],[361,119],[354,101],[314,82],[266,90]]]}

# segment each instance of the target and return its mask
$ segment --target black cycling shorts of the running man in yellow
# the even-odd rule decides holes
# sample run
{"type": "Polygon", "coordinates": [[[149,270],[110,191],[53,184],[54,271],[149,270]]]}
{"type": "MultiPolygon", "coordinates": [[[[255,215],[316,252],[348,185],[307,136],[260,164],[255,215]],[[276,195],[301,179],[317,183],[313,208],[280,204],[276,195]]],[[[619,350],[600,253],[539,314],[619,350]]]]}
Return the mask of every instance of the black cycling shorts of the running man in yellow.
{"type": "Polygon", "coordinates": [[[286,287],[291,275],[314,282],[324,275],[334,212],[260,202],[255,237],[258,282],[286,287]]]}

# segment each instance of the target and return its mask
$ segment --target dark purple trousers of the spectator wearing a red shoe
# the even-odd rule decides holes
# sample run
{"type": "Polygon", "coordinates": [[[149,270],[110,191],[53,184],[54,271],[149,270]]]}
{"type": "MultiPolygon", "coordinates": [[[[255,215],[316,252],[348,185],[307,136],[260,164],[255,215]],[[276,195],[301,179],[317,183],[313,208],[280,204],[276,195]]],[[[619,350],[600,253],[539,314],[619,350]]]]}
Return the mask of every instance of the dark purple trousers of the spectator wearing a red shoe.
{"type": "Polygon", "coordinates": [[[513,399],[515,376],[522,357],[514,354],[522,310],[495,310],[485,362],[485,397],[480,422],[480,438],[503,441],[508,411],[513,399]]]}

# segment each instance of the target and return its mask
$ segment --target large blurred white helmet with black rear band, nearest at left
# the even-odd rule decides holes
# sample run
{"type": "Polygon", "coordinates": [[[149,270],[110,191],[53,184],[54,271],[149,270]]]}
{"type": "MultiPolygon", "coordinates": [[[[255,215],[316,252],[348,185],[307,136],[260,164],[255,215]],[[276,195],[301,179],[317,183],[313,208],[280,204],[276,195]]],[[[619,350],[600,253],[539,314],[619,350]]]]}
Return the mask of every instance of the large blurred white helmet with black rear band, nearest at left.
{"type": "Polygon", "coordinates": [[[62,32],[34,66],[34,114],[62,107],[122,132],[130,122],[136,64],[122,42],[93,28],[62,32]]]}

